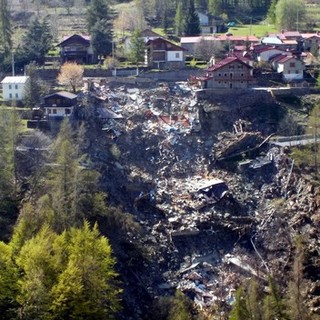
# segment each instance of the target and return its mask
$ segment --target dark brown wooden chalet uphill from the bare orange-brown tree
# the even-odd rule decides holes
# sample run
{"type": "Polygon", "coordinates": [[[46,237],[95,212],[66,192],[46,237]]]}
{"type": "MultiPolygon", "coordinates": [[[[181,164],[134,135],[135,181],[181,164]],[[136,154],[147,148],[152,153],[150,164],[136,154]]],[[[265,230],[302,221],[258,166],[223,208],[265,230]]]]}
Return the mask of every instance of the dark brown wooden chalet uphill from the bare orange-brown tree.
{"type": "Polygon", "coordinates": [[[66,36],[57,44],[60,48],[60,62],[74,61],[77,63],[95,63],[91,38],[87,35],[73,34],[66,36]]]}

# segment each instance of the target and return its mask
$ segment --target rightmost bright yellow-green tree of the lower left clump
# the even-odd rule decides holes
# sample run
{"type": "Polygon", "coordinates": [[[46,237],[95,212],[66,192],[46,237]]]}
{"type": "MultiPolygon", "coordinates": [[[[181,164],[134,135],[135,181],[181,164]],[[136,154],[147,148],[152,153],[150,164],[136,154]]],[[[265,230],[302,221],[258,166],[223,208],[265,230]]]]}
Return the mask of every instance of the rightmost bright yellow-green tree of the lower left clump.
{"type": "Polygon", "coordinates": [[[51,291],[54,319],[105,319],[120,310],[115,259],[97,225],[65,231],[53,249],[59,271],[51,291]]]}

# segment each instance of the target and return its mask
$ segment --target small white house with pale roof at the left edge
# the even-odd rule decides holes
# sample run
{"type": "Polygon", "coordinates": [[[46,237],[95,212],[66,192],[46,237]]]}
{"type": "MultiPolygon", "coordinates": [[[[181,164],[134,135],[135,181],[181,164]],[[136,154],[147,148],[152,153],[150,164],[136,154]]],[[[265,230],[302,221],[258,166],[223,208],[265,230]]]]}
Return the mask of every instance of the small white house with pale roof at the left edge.
{"type": "Polygon", "coordinates": [[[2,81],[2,95],[4,101],[21,101],[25,97],[25,86],[28,76],[9,76],[2,81]]]}

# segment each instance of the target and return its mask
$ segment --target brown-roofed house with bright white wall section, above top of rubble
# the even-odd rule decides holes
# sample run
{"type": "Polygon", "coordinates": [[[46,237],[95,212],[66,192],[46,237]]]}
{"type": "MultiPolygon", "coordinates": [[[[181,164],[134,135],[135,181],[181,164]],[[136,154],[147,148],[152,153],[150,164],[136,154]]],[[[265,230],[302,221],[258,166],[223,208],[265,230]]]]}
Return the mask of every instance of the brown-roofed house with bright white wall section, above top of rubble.
{"type": "Polygon", "coordinates": [[[164,38],[146,42],[145,64],[156,69],[180,69],[185,66],[186,49],[164,38]]]}

